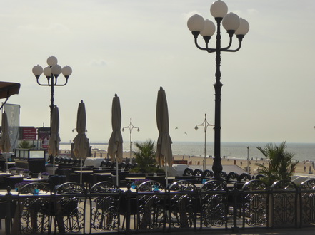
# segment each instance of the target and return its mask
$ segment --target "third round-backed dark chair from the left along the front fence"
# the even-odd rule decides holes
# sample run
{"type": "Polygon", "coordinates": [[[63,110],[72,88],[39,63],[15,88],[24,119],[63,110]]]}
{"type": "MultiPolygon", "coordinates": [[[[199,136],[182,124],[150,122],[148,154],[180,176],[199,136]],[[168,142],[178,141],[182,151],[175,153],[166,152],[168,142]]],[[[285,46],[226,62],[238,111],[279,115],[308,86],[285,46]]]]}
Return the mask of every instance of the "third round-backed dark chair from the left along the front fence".
{"type": "Polygon", "coordinates": [[[96,231],[117,229],[119,227],[119,187],[111,182],[99,182],[94,184],[89,192],[91,229],[96,231]]]}

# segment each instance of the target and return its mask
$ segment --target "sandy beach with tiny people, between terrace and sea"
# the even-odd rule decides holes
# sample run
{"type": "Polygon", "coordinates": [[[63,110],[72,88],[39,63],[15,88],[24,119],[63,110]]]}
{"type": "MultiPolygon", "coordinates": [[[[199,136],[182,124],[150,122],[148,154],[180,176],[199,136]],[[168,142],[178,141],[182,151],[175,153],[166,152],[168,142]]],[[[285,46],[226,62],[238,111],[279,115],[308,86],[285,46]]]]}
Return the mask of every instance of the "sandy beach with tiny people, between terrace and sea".
{"type": "MultiPolygon", "coordinates": [[[[64,150],[61,150],[61,154],[64,153],[64,150]]],[[[106,151],[92,151],[94,157],[107,157],[107,152],[106,151]]],[[[130,153],[129,152],[124,152],[124,158],[129,158],[130,153]]],[[[204,157],[199,157],[199,156],[191,156],[189,157],[188,155],[174,155],[174,160],[186,160],[187,162],[191,161],[191,165],[200,165],[200,169],[202,169],[202,161],[204,160],[204,157]]],[[[209,157],[206,158],[206,165],[210,166],[212,165],[213,160],[209,157]]],[[[222,158],[221,159],[221,164],[222,165],[233,165],[236,163],[237,166],[241,167],[242,169],[246,169],[247,167],[247,160],[244,159],[235,159],[235,158],[222,158]]],[[[256,163],[260,164],[266,164],[266,160],[249,160],[249,167],[250,167],[250,173],[254,174],[255,170],[258,168],[256,166],[256,163]]],[[[299,162],[296,165],[296,170],[295,174],[309,174],[309,170],[311,168],[311,172],[315,173],[311,162],[306,161],[305,164],[304,162],[299,162]],[[305,166],[305,167],[304,167],[305,166]]]]}

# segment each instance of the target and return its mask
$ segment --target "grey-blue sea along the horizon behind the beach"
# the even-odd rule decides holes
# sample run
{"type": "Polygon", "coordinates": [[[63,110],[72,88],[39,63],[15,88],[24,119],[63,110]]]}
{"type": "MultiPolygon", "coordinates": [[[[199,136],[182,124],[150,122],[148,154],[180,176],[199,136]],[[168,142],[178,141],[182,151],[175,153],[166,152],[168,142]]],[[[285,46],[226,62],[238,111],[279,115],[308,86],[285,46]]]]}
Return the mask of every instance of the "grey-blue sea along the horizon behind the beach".
{"type": "MultiPolygon", "coordinates": [[[[266,146],[266,142],[221,142],[221,157],[229,159],[253,160],[265,158],[257,147],[266,146]]],[[[279,143],[276,143],[277,145],[279,143]]],[[[91,142],[92,152],[107,150],[108,144],[104,142],[91,142]]],[[[286,143],[286,151],[294,153],[294,160],[315,160],[315,143],[286,143]]],[[[70,143],[60,143],[60,150],[71,150],[70,143]]],[[[136,146],[133,146],[136,151],[136,146]]],[[[173,155],[204,157],[204,142],[173,142],[171,145],[173,155]]],[[[124,152],[130,152],[130,143],[124,142],[124,152]]],[[[214,156],[214,142],[206,142],[206,157],[214,156]]]]}

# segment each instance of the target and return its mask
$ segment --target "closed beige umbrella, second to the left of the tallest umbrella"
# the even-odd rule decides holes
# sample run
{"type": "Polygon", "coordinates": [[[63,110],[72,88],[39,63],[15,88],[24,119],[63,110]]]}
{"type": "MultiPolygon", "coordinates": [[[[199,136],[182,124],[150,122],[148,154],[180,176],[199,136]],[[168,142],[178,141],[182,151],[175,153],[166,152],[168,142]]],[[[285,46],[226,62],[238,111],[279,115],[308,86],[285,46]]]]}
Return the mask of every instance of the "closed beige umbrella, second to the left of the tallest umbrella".
{"type": "MultiPolygon", "coordinates": [[[[77,158],[85,159],[86,155],[88,155],[88,143],[89,139],[85,134],[86,130],[86,112],[85,105],[83,100],[79,103],[78,114],[76,116],[76,132],[78,134],[74,138],[74,156],[77,158]]],[[[81,175],[80,175],[80,183],[82,183],[82,161],[81,163],[81,175]]]]}

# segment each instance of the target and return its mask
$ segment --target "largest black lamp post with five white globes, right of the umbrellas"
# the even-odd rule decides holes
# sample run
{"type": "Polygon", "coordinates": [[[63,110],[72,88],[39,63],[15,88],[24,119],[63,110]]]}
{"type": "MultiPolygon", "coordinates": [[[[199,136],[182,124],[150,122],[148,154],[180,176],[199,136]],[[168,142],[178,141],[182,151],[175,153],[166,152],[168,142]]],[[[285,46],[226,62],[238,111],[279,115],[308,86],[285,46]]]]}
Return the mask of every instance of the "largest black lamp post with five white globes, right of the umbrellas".
{"type": "Polygon", "coordinates": [[[210,8],[211,15],[214,16],[216,26],[212,21],[208,19],[204,20],[202,16],[194,14],[187,22],[187,26],[191,33],[194,35],[194,42],[197,48],[208,53],[216,53],[216,83],[214,83],[215,90],[215,113],[214,113],[214,164],[212,170],[214,171],[214,178],[220,179],[222,172],[221,164],[221,51],[236,52],[241,48],[241,41],[246,33],[249,31],[249,23],[239,18],[234,13],[228,12],[228,7],[224,1],[215,1],[210,8]],[[229,34],[229,45],[221,47],[221,23],[229,34]],[[211,36],[216,31],[216,47],[209,48],[209,41],[211,36]],[[201,47],[198,44],[199,34],[203,36],[205,46],[201,47]],[[235,50],[231,50],[233,35],[239,40],[239,46],[235,50]]]}

